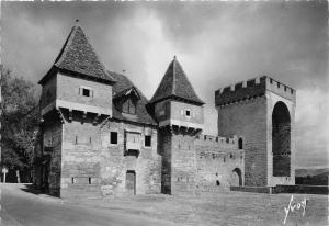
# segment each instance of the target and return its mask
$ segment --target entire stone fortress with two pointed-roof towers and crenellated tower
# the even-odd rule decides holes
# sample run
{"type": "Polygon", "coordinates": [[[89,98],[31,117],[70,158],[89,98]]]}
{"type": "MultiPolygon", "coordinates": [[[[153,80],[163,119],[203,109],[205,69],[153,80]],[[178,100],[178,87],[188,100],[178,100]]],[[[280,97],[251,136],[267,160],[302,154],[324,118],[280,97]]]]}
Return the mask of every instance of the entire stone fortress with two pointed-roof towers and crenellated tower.
{"type": "Polygon", "coordinates": [[[294,89],[266,76],[215,92],[218,136],[174,57],[148,101],[75,25],[38,82],[37,187],[57,196],[295,184],[294,89]]]}

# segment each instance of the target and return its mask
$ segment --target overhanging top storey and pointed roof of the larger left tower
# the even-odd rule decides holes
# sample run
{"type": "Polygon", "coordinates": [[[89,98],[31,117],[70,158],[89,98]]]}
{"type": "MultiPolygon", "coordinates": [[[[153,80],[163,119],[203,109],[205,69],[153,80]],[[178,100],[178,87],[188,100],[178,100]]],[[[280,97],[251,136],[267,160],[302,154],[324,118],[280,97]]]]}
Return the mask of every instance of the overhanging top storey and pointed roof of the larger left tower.
{"type": "Polygon", "coordinates": [[[114,78],[105,70],[80,25],[67,37],[42,84],[42,116],[53,110],[78,112],[83,116],[112,116],[114,78]]]}

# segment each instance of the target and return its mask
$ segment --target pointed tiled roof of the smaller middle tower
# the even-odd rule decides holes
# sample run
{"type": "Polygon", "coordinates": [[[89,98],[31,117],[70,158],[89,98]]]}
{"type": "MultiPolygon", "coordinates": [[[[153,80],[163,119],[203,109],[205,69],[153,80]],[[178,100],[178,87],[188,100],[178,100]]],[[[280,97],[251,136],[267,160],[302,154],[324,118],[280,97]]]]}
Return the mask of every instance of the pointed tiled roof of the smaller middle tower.
{"type": "Polygon", "coordinates": [[[149,103],[154,104],[169,98],[182,99],[200,105],[204,104],[204,102],[196,95],[175,56],[170,63],[156,93],[149,103]]]}

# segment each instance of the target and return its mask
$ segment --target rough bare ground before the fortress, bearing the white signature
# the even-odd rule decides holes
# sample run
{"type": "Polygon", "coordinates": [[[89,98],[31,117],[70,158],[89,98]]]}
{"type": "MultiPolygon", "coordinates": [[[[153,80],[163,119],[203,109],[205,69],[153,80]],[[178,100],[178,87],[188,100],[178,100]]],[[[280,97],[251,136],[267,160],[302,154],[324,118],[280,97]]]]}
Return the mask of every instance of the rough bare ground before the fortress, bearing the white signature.
{"type": "MultiPolygon", "coordinates": [[[[66,202],[92,205],[152,218],[166,219],[179,225],[284,225],[285,207],[292,194],[260,194],[224,192],[202,195],[137,195],[106,199],[71,199],[66,202]]],[[[293,204],[307,199],[303,208],[290,211],[285,225],[329,225],[328,196],[294,194],[293,204]]]]}

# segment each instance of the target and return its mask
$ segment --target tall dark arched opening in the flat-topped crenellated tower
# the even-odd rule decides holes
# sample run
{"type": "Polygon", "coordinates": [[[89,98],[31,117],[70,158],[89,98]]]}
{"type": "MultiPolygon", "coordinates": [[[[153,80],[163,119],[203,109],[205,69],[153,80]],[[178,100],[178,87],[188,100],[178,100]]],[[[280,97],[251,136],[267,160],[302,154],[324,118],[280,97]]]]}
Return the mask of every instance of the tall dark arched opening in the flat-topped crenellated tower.
{"type": "Polygon", "coordinates": [[[291,174],[291,116],[287,106],[279,101],[272,113],[273,176],[291,174]]]}

